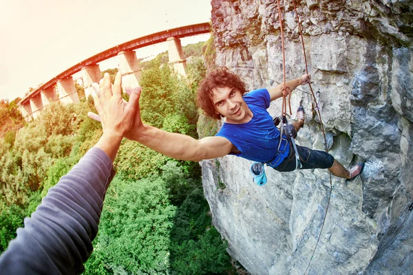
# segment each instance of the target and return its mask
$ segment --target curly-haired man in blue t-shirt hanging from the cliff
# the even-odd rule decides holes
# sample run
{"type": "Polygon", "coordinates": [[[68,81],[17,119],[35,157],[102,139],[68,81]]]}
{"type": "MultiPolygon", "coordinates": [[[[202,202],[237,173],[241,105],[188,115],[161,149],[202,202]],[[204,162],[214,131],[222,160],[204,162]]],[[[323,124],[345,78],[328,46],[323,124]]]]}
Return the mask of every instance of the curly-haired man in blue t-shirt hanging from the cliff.
{"type": "MultiPolygon", "coordinates": [[[[299,85],[310,83],[310,75],[291,80],[272,89],[257,89],[246,94],[247,85],[233,72],[226,68],[215,69],[200,83],[197,102],[199,107],[216,120],[225,118],[220,131],[213,137],[195,140],[188,135],[169,133],[154,126],[143,124],[139,109],[136,111],[134,124],[125,134],[129,140],[141,144],[175,159],[198,162],[225,155],[237,155],[255,162],[287,172],[295,170],[295,150],[285,137],[280,139],[280,132],[273,118],[266,111],[270,102],[293,91],[299,85]],[[281,144],[279,144],[281,142],[281,144]]],[[[107,87],[110,89],[110,87],[107,87]]],[[[97,115],[89,116],[98,119],[97,115]]],[[[304,109],[297,111],[299,120],[293,123],[298,131],[304,125],[304,109]]],[[[360,162],[350,170],[344,168],[332,155],[297,146],[301,169],[328,168],[337,176],[352,181],[363,170],[360,162]]]]}

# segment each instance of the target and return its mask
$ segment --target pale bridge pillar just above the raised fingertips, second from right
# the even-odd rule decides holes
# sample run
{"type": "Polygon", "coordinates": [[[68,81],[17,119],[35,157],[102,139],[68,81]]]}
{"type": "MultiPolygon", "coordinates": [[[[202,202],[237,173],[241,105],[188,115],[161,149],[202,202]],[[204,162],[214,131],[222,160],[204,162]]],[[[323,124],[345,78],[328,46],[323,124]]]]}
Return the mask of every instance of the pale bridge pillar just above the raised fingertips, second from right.
{"type": "Polygon", "coordinates": [[[136,58],[134,51],[119,52],[118,53],[119,70],[122,74],[122,88],[125,91],[125,87],[137,87],[139,86],[140,76],[142,70],[136,58]]]}

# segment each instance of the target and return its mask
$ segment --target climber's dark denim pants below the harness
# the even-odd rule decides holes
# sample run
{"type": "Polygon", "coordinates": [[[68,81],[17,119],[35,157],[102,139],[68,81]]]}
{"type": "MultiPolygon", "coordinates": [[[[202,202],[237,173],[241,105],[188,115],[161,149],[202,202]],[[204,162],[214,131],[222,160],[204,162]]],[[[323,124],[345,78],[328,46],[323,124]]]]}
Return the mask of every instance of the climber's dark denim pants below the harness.
{"type": "MultiPolygon", "coordinates": [[[[295,170],[295,150],[293,144],[290,144],[290,152],[281,164],[277,167],[273,167],[279,172],[290,172],[295,170]]],[[[299,160],[301,162],[301,169],[314,169],[314,168],[330,168],[334,163],[334,157],[325,151],[311,150],[310,148],[298,146],[297,151],[299,160]]]]}

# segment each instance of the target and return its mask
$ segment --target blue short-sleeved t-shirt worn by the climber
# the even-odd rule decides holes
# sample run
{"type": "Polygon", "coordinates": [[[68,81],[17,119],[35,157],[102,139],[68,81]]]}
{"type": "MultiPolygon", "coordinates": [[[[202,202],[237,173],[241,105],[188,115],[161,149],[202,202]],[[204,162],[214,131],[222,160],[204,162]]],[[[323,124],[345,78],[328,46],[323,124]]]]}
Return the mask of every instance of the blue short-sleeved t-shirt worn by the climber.
{"type": "MultiPolygon", "coordinates": [[[[275,159],[279,144],[279,130],[266,110],[270,107],[270,94],[267,89],[257,89],[250,91],[243,98],[253,112],[253,118],[243,124],[224,122],[216,135],[225,137],[241,151],[240,154],[230,153],[231,155],[244,157],[254,162],[270,162],[275,159]]],[[[277,164],[288,156],[289,146],[286,146],[286,142],[282,143],[279,151],[282,153],[279,153],[277,164]]]]}

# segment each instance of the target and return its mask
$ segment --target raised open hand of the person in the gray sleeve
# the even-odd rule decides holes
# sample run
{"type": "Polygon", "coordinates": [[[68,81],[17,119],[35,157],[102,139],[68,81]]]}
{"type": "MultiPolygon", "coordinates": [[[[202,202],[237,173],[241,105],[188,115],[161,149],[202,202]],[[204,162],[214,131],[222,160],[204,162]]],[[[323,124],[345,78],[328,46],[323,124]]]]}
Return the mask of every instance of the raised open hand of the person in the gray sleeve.
{"type": "Polygon", "coordinates": [[[99,114],[89,112],[87,115],[89,118],[102,123],[103,133],[123,137],[134,124],[136,113],[140,118],[139,98],[141,89],[137,87],[129,90],[129,102],[126,102],[121,96],[121,85],[122,75],[120,72],[116,74],[114,85],[110,82],[110,76],[107,73],[100,80],[99,87],[94,83],[92,86],[95,89],[93,99],[99,114]]]}

